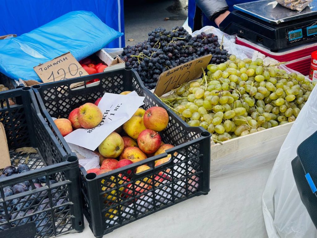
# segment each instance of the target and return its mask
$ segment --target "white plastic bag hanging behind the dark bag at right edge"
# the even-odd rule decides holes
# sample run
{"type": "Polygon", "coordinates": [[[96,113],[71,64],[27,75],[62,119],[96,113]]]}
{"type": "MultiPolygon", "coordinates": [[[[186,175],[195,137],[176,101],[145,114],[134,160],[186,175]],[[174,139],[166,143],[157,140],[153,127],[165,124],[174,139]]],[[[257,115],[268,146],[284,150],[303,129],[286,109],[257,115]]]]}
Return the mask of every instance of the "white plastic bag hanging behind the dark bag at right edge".
{"type": "Polygon", "coordinates": [[[317,130],[317,87],[290,129],[262,197],[269,238],[316,238],[317,230],[301,202],[291,167],[301,142],[317,130]]]}

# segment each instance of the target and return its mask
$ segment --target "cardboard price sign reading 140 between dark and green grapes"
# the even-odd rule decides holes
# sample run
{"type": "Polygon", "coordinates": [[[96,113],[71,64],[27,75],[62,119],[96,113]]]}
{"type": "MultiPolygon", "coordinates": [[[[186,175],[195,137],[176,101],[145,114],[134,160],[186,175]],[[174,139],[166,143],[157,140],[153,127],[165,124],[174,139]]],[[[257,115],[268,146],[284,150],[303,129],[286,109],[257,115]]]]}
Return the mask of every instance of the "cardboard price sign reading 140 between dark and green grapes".
{"type": "Polygon", "coordinates": [[[203,73],[201,68],[207,67],[211,57],[205,55],[161,73],[154,93],[160,97],[182,83],[197,79],[203,73]]]}

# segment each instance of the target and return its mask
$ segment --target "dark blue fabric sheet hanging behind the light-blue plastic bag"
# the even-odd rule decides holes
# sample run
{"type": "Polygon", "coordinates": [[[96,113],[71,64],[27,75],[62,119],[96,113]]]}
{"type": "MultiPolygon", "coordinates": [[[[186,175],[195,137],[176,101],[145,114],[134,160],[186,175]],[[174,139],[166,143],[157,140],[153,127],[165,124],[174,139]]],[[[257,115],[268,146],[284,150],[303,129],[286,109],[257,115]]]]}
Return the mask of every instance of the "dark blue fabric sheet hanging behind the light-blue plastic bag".
{"type": "MultiPolygon", "coordinates": [[[[2,0],[0,36],[18,36],[36,29],[71,11],[93,12],[109,27],[124,32],[123,0],[2,0]]],[[[124,36],[107,48],[124,47],[124,36]]]]}

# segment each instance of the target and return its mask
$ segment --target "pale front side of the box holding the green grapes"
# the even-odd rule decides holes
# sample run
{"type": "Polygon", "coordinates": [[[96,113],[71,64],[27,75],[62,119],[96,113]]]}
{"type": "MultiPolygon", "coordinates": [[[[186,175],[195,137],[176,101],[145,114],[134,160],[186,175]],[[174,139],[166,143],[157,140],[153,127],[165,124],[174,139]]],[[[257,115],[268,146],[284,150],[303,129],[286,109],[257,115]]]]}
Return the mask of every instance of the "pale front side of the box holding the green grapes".
{"type": "Polygon", "coordinates": [[[211,142],[210,178],[217,179],[258,169],[274,161],[294,122],[246,136],[211,142]]]}

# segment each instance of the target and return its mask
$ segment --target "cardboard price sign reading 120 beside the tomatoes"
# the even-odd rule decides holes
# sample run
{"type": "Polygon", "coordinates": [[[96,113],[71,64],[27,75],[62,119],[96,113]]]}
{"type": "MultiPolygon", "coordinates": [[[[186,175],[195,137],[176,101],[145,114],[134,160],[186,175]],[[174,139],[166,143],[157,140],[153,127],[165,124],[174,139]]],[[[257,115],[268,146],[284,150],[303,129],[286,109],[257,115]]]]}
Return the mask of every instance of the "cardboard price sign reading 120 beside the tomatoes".
{"type": "Polygon", "coordinates": [[[43,83],[88,75],[70,52],[40,64],[33,69],[43,83]]]}

